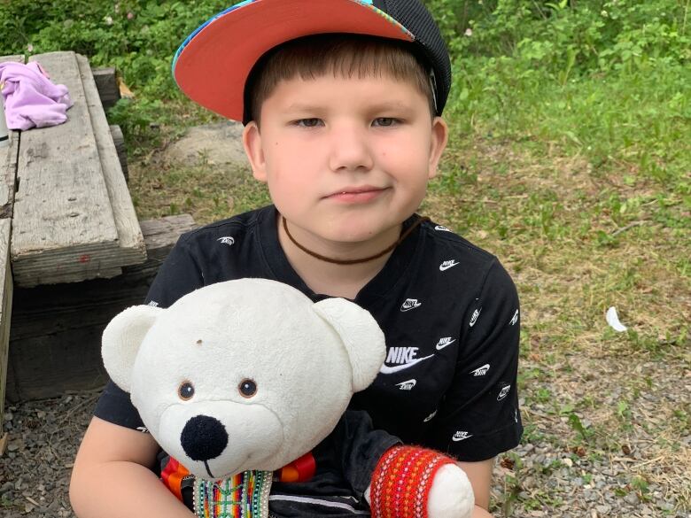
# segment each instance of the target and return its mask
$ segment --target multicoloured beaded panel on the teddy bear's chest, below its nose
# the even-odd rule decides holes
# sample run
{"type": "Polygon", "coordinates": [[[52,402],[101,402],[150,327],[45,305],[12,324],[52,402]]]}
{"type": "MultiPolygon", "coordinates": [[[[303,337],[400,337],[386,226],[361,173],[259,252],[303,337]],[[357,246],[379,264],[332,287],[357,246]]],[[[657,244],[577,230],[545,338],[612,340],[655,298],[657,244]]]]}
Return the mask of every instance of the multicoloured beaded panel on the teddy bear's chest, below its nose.
{"type": "Polygon", "coordinates": [[[194,514],[198,518],[268,518],[272,472],[245,471],[225,480],[197,478],[194,514]]]}

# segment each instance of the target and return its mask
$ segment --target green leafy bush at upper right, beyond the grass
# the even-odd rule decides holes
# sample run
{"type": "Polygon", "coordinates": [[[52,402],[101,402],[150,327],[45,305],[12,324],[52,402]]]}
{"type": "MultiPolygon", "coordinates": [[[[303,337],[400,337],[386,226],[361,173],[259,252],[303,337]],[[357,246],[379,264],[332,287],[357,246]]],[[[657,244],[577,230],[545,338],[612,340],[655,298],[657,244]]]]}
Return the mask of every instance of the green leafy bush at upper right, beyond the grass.
{"type": "MultiPolygon", "coordinates": [[[[565,80],[648,60],[691,60],[682,0],[428,0],[449,48],[467,56],[519,58],[565,80]]],[[[691,22],[689,22],[691,23],[691,22]]]]}

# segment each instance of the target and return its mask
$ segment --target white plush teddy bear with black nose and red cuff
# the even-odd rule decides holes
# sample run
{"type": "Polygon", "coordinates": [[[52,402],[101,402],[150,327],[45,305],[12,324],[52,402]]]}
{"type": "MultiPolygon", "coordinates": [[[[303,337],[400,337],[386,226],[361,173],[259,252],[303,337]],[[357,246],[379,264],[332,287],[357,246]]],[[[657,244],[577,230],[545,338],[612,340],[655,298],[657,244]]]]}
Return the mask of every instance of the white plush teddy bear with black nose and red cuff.
{"type": "MultiPolygon", "coordinates": [[[[283,474],[302,490],[309,487],[303,475],[320,476],[321,460],[310,452],[324,450],[324,439],[346,426],[341,418],[353,392],[374,381],[386,351],[374,318],[346,299],[313,303],[286,284],[241,279],[193,291],[167,309],[126,309],[105,329],[102,352],[113,382],[130,393],[172,457],[162,473],[171,491],[182,498],[181,481],[191,480],[198,516],[254,517],[269,515],[269,499],[272,516],[290,514],[281,501],[305,504],[269,495],[272,482],[283,474]],[[221,500],[242,509],[229,514],[221,500]]],[[[472,488],[453,461],[356,428],[373,434],[363,444],[382,446],[377,458],[352,467],[374,468],[368,487],[351,488],[353,509],[367,509],[364,497],[373,516],[394,506],[391,515],[400,518],[470,517],[472,488]],[[406,493],[399,500],[387,494],[391,483],[406,493]]]]}

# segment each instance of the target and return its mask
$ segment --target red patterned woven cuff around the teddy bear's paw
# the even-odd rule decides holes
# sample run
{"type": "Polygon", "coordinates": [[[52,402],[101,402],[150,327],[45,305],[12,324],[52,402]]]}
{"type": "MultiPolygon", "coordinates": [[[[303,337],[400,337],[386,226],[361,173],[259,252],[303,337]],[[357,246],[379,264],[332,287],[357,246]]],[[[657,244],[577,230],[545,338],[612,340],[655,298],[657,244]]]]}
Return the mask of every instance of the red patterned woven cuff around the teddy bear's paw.
{"type": "Polygon", "coordinates": [[[418,446],[394,446],[372,475],[372,518],[427,518],[427,499],[439,468],[454,460],[418,446]]]}

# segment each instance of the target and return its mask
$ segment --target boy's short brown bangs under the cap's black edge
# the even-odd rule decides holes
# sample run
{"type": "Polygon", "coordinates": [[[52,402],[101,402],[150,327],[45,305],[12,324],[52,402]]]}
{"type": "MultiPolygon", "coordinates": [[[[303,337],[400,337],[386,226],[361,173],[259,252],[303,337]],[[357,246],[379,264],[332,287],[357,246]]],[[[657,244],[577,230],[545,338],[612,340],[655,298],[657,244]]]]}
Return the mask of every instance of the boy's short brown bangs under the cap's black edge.
{"type": "Polygon", "coordinates": [[[374,36],[312,35],[283,43],[260,59],[245,92],[250,119],[259,124],[261,105],[281,81],[295,77],[309,81],[328,73],[344,78],[390,76],[409,81],[427,97],[431,116],[435,115],[430,73],[410,43],[374,36]]]}

